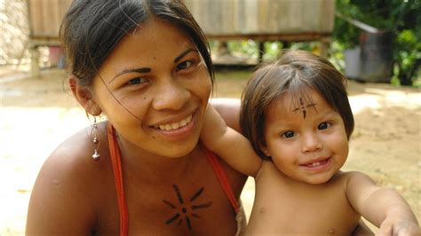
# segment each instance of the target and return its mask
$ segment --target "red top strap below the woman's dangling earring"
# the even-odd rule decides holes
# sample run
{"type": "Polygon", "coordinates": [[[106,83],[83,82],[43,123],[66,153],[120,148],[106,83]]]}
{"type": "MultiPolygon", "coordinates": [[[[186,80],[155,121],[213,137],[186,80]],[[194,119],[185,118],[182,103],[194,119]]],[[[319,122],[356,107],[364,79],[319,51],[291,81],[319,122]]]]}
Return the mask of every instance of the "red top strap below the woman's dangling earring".
{"type": "Polygon", "coordinates": [[[126,198],[124,196],[122,159],[120,156],[120,149],[118,148],[117,140],[115,139],[114,128],[109,122],[107,124],[107,138],[111,163],[113,165],[118,211],[120,213],[120,235],[126,236],[129,232],[129,213],[127,209],[126,198]]]}

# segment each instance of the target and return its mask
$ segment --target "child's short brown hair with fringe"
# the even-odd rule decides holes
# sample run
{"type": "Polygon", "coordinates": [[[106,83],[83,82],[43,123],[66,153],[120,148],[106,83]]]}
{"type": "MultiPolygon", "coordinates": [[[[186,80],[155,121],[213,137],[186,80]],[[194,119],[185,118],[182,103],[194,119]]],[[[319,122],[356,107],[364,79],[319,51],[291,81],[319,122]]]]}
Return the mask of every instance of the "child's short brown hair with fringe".
{"type": "Polygon", "coordinates": [[[249,138],[260,157],[268,159],[260,150],[261,146],[266,146],[267,107],[286,91],[308,98],[306,89],[313,89],[340,114],[349,139],[353,133],[353,112],[346,93],[346,82],[346,77],[327,59],[307,51],[283,51],[276,62],[260,67],[242,92],[242,134],[249,138]]]}

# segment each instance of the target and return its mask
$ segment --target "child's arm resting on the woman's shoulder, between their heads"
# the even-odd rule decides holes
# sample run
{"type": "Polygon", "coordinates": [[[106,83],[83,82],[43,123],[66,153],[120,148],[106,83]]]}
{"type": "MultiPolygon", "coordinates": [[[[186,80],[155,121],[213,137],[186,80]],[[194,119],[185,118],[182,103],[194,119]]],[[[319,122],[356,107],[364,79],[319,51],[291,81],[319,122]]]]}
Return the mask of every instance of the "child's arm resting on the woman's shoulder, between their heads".
{"type": "Polygon", "coordinates": [[[254,152],[250,141],[227,127],[211,104],[205,114],[201,139],[206,147],[234,169],[248,176],[257,176],[261,159],[254,152]]]}

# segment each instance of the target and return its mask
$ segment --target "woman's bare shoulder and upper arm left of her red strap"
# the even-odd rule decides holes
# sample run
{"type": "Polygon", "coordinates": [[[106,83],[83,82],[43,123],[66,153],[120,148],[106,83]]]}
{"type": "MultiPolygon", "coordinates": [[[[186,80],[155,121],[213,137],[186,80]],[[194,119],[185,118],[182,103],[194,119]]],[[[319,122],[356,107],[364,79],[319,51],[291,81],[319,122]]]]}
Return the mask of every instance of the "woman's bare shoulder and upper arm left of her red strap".
{"type": "Polygon", "coordinates": [[[89,133],[90,128],[75,133],[44,162],[29,202],[28,234],[63,233],[64,229],[86,234],[96,224],[98,195],[103,193],[98,182],[103,185],[109,177],[107,158],[91,158],[89,133]]]}

